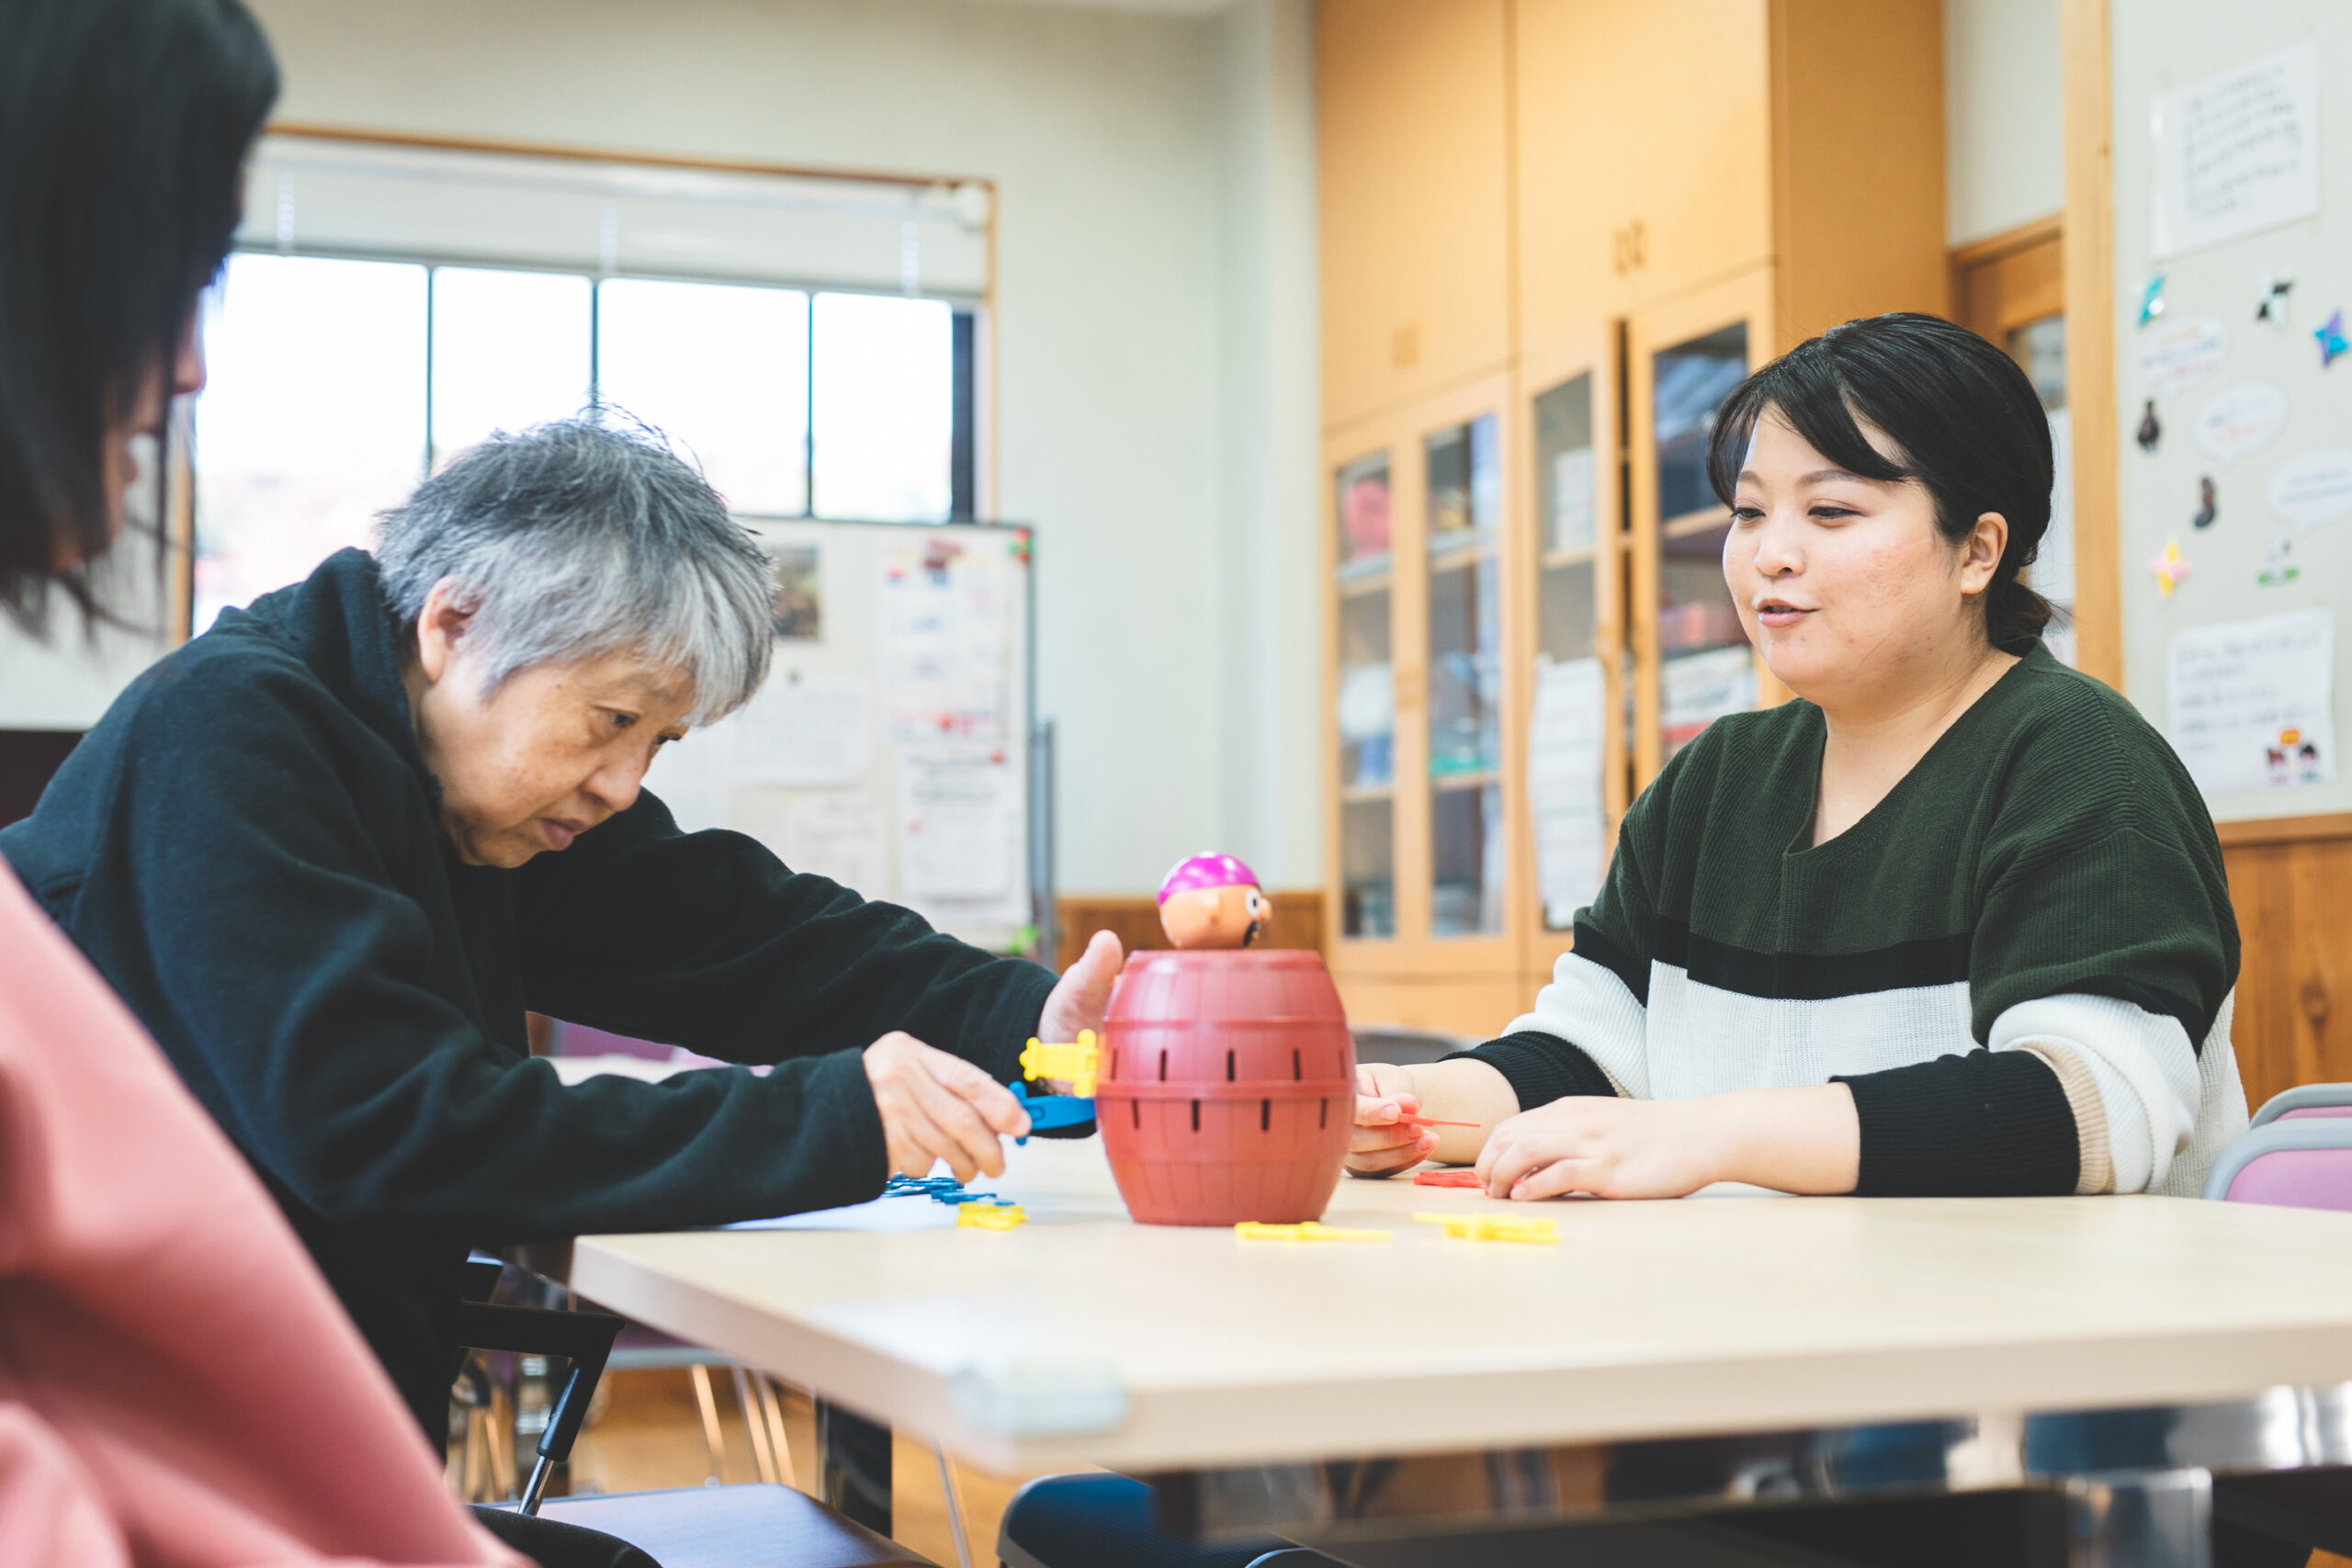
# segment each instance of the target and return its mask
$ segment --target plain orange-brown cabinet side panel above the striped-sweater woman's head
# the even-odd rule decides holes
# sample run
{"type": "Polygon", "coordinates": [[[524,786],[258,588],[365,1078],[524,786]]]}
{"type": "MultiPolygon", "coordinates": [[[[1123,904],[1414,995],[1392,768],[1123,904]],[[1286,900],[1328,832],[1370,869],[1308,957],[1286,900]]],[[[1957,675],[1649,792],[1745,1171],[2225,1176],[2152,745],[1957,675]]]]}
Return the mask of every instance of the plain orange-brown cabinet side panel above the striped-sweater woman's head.
{"type": "Polygon", "coordinates": [[[1771,0],[1776,339],[1950,310],[1943,5],[1771,0]]]}

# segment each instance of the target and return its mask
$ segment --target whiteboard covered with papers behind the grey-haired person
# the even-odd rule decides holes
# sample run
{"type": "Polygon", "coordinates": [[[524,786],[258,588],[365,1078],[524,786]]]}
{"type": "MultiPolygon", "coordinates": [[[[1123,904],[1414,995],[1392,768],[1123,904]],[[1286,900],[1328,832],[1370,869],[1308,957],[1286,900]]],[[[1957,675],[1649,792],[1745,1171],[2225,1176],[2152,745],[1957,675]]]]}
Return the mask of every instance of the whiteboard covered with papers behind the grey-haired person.
{"type": "Polygon", "coordinates": [[[682,827],[995,947],[1042,931],[1051,865],[1033,724],[1025,527],[743,520],[776,576],[776,651],[739,712],[663,748],[682,827]]]}

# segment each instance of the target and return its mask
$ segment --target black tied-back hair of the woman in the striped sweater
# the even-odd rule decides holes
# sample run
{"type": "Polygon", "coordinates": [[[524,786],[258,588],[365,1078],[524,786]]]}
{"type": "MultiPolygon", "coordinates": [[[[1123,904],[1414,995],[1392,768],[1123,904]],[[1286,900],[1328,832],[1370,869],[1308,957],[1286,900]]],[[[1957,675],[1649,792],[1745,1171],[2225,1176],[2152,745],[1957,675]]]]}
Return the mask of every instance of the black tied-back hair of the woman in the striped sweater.
{"type": "Polygon", "coordinates": [[[1985,512],[2009,520],[2009,545],[1985,588],[1985,637],[2004,654],[2032,649],[2058,614],[2018,581],[2051,524],[2051,425],[2016,360],[1910,310],[1832,327],[1724,400],[1708,440],[1708,480],[1724,505],[1766,409],[1851,475],[1919,480],[1936,529],[1955,545],[1985,512]],[[1858,421],[1884,430],[1896,456],[1872,447],[1858,421]]]}

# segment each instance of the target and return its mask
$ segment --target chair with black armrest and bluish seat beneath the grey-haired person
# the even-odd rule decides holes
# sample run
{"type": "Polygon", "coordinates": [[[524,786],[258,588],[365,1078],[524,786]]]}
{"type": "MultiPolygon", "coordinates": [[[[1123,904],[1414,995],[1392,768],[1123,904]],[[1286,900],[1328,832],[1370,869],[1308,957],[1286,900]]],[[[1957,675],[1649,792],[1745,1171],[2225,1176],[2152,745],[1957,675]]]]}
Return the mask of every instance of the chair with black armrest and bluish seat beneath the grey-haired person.
{"type": "Polygon", "coordinates": [[[774,1481],[543,1502],[548,1476],[572,1458],[626,1319],[466,1300],[456,1326],[470,1349],[562,1356],[567,1363],[515,1512],[612,1535],[663,1568],[936,1568],[931,1559],[774,1481]]]}

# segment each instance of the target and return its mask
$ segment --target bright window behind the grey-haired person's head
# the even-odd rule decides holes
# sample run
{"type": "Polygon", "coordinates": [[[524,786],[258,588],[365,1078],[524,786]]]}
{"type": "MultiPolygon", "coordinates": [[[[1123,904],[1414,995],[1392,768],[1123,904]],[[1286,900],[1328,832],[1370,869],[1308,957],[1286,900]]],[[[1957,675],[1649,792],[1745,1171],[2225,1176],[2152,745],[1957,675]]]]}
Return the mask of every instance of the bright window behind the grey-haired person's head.
{"type": "Polygon", "coordinates": [[[193,630],[367,545],[492,430],[590,404],[739,515],[969,517],[969,343],[936,299],[240,252],[205,317],[193,630]]]}

